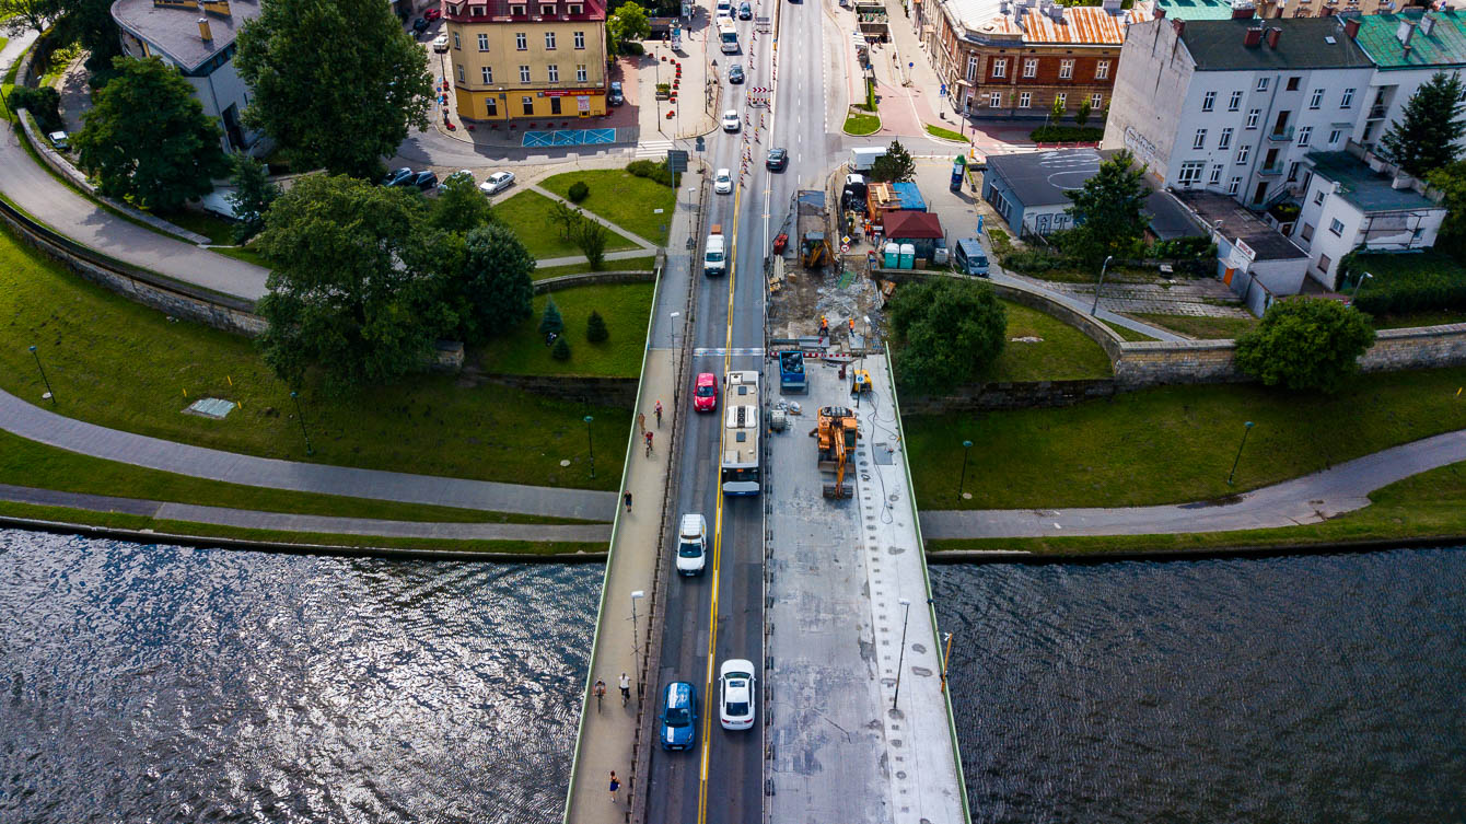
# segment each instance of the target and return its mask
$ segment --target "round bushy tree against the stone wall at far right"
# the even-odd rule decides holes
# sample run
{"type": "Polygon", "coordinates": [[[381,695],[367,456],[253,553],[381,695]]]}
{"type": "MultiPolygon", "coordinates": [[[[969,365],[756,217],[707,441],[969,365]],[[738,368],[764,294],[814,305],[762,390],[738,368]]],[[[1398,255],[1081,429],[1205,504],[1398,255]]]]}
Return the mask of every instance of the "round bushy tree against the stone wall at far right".
{"type": "Polygon", "coordinates": [[[1267,386],[1333,393],[1374,343],[1369,315],[1325,298],[1290,298],[1237,339],[1237,367],[1267,386]]]}

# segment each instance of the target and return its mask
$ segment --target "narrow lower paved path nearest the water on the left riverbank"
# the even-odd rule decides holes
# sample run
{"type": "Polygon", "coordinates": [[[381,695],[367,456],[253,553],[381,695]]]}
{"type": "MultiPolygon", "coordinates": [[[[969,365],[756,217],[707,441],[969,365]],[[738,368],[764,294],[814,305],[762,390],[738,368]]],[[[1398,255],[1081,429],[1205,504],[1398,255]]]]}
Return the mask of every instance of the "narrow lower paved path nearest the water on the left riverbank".
{"type": "Polygon", "coordinates": [[[15,487],[0,484],[0,500],[34,506],[60,506],[103,513],[125,513],[157,520],[182,520],[214,526],[271,529],[277,532],[314,532],[328,535],[368,535],[374,538],[435,538],[449,541],[566,541],[605,542],[608,523],[444,523],[435,520],[380,520],[375,518],[336,518],[330,515],[292,515],[221,506],[120,499],[15,487]]]}

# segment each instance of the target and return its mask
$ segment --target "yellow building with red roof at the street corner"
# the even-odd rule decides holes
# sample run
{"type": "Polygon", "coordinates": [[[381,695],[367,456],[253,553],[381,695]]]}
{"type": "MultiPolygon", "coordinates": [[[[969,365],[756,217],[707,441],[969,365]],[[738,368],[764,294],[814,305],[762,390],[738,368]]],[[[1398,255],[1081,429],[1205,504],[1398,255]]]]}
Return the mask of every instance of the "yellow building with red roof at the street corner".
{"type": "Polygon", "coordinates": [[[446,0],[459,117],[605,114],[605,0],[446,0]]]}

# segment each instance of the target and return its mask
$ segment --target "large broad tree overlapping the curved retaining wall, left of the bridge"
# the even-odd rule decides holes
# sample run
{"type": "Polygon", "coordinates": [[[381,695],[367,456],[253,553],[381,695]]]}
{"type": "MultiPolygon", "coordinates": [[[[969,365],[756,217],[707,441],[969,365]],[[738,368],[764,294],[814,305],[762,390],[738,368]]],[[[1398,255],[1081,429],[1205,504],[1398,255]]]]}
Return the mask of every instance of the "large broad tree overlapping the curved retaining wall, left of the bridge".
{"type": "Polygon", "coordinates": [[[301,177],[265,214],[257,245],[270,258],[257,311],[268,321],[258,345],[290,386],[308,369],[327,391],[381,386],[421,368],[456,323],[430,257],[416,192],[346,176],[301,177]]]}

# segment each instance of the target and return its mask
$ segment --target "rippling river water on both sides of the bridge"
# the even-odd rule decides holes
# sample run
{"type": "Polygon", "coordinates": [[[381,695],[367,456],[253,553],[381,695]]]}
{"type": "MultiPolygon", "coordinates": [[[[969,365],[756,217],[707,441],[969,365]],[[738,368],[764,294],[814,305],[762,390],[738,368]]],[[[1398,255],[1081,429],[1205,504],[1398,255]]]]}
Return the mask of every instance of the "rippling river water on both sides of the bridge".
{"type": "MultiPolygon", "coordinates": [[[[600,579],[0,531],[0,823],[559,821],[600,579]]],[[[973,820],[1466,820],[1463,582],[934,567],[973,820]]]]}

